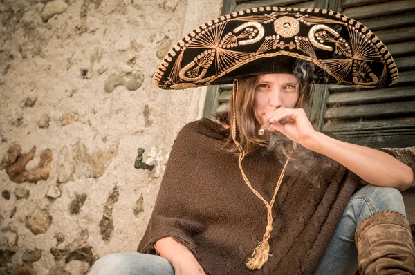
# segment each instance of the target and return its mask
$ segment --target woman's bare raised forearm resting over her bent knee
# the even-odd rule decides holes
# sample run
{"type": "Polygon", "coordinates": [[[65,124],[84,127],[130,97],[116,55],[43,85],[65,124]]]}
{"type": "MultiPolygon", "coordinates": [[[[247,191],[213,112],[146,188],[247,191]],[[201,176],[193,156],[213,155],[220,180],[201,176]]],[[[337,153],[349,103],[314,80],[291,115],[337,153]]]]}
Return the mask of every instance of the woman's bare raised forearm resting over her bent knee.
{"type": "Polygon", "coordinates": [[[412,169],[385,152],[335,140],[319,132],[308,144],[308,149],[339,162],[369,184],[400,191],[412,184],[412,169]]]}

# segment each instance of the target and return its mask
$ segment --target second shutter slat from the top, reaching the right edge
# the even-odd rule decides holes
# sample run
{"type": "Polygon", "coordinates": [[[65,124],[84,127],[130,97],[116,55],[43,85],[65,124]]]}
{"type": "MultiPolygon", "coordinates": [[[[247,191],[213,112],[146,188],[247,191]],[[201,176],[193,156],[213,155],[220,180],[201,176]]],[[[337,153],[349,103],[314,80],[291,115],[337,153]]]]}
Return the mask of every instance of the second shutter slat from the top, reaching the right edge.
{"type": "Polygon", "coordinates": [[[360,23],[367,26],[370,30],[384,30],[387,28],[399,28],[403,26],[414,25],[415,16],[413,12],[405,14],[389,15],[385,17],[376,17],[359,20],[360,23]]]}

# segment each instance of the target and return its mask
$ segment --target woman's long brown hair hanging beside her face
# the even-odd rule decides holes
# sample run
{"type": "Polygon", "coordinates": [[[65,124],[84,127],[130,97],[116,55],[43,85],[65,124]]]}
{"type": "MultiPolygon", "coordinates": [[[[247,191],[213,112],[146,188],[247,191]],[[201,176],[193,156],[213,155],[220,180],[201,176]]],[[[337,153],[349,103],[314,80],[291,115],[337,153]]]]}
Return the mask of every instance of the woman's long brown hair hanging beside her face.
{"type": "MultiPolygon", "coordinates": [[[[294,75],[299,80],[299,99],[295,108],[305,108],[313,91],[313,84],[310,85],[308,82],[311,75],[304,73],[304,67],[306,67],[305,72],[313,70],[313,68],[308,68],[308,64],[304,65],[304,63],[297,62],[296,66],[294,66],[294,75]]],[[[231,96],[228,104],[228,113],[216,117],[223,126],[232,129],[233,116],[235,115],[237,122],[236,140],[247,154],[261,147],[266,147],[268,144],[268,140],[258,135],[258,130],[261,125],[257,122],[254,111],[255,88],[261,77],[262,75],[255,75],[238,78],[238,91],[235,91],[234,87],[234,91],[232,92],[237,92],[236,102],[234,102],[231,96]],[[234,108],[234,104],[236,104],[236,108],[234,108]]],[[[288,149],[288,146],[284,147],[287,147],[282,148],[284,154],[288,153],[290,155],[291,150],[288,149]]],[[[239,153],[237,146],[232,140],[232,135],[228,136],[224,148],[232,153],[239,153]]]]}

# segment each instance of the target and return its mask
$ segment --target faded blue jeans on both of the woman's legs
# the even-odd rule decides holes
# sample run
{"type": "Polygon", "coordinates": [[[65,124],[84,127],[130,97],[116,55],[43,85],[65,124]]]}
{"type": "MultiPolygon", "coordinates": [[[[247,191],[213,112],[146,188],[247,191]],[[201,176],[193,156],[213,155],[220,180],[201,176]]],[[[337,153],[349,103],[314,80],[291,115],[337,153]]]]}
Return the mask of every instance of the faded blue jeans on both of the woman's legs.
{"type": "MultiPolygon", "coordinates": [[[[405,215],[398,189],[367,185],[353,194],[315,274],[355,274],[358,270],[358,252],[354,244],[356,227],[367,216],[383,210],[405,215]]],[[[160,256],[114,253],[96,261],[89,275],[174,275],[174,269],[160,256]]]]}

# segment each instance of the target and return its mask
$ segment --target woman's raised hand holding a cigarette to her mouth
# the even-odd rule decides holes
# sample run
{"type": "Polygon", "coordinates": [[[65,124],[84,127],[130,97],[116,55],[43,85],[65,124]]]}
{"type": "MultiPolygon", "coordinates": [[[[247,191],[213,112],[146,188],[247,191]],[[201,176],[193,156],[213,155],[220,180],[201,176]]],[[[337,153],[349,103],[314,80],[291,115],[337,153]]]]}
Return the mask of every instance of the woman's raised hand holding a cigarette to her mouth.
{"type": "Polygon", "coordinates": [[[278,108],[266,113],[265,118],[271,123],[268,131],[279,131],[293,142],[310,149],[317,131],[313,129],[304,109],[278,108]]]}

